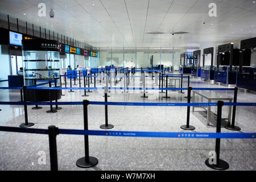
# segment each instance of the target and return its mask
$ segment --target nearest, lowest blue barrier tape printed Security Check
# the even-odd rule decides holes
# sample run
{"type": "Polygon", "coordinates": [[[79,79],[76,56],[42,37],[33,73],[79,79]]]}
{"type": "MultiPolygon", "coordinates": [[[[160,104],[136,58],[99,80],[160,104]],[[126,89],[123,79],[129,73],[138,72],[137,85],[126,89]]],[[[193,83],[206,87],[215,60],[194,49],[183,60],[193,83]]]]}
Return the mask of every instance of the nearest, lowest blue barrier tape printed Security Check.
{"type": "MultiPolygon", "coordinates": [[[[16,133],[48,134],[46,129],[28,129],[20,127],[0,126],[0,131],[16,133]]],[[[98,135],[108,137],[149,137],[149,138],[240,138],[255,139],[256,133],[170,133],[148,131],[102,131],[102,130],[70,130],[59,129],[59,134],[98,135]]]]}

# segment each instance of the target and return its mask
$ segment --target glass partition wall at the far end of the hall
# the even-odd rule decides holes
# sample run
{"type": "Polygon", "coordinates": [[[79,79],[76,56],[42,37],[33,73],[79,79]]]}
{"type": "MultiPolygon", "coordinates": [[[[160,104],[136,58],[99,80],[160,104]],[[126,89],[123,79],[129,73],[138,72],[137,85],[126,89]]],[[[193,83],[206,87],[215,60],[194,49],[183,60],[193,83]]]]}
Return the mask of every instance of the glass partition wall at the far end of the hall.
{"type": "Polygon", "coordinates": [[[115,67],[129,68],[156,67],[162,64],[179,71],[180,54],[184,52],[185,49],[182,48],[100,48],[98,63],[100,66],[113,64],[115,67]]]}

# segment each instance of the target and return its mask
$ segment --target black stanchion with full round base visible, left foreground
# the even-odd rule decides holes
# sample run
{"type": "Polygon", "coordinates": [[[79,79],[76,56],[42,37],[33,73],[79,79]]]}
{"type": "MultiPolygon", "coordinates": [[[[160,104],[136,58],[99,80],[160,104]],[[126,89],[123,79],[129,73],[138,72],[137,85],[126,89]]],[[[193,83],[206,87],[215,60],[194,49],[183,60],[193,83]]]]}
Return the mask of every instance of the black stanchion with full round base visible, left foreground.
{"type": "MultiPolygon", "coordinates": [[[[84,130],[88,130],[88,105],[89,101],[84,100],[84,130]]],[[[98,159],[89,156],[89,139],[88,135],[84,135],[84,151],[85,156],[83,158],[80,158],[76,161],[76,166],[82,167],[82,168],[89,168],[96,166],[98,164],[98,159]]]]}

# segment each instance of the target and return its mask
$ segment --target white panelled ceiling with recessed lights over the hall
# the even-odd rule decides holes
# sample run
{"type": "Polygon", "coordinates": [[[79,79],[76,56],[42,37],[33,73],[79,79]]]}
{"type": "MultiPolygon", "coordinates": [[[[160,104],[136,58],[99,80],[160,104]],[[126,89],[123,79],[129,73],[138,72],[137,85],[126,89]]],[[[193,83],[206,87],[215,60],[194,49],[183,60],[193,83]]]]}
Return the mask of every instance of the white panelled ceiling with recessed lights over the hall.
{"type": "Polygon", "coordinates": [[[97,47],[197,48],[202,42],[221,44],[255,37],[253,1],[0,0],[0,13],[97,47]],[[37,15],[40,2],[46,3],[46,17],[37,15]],[[217,17],[208,15],[211,2],[217,4],[217,17]],[[55,12],[52,20],[50,9],[55,12]],[[151,31],[189,34],[146,34],[151,31]]]}

